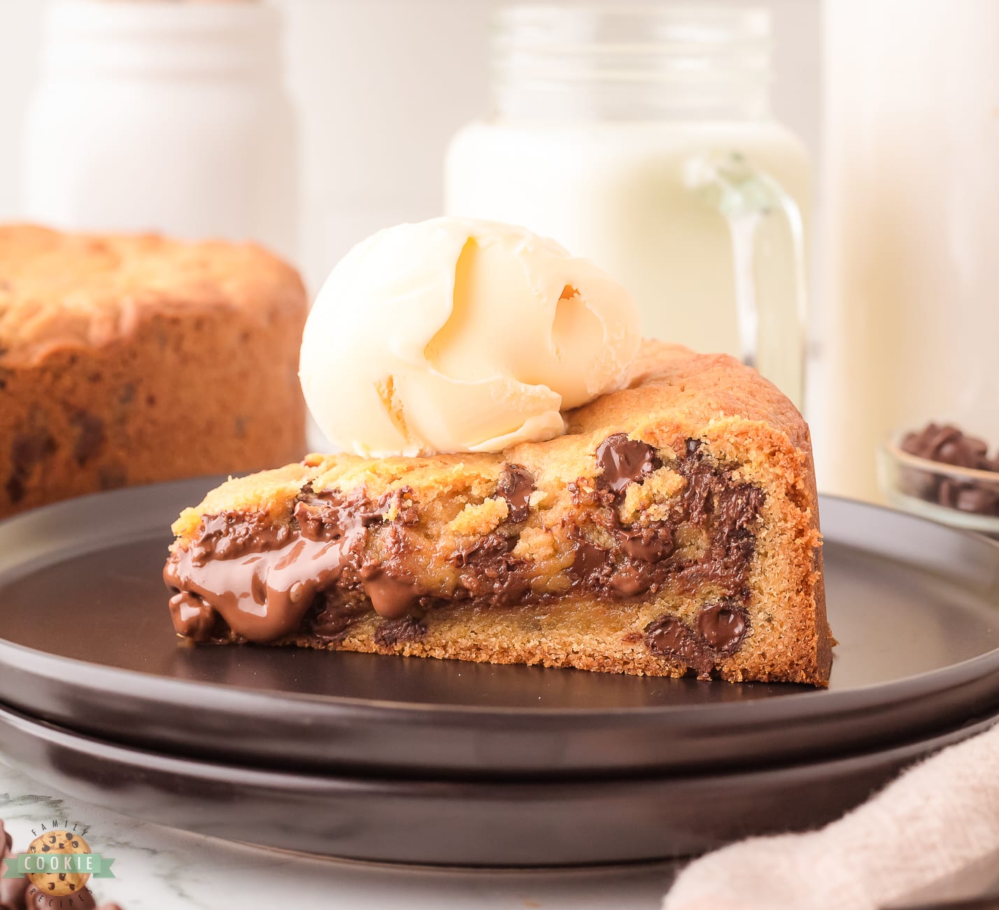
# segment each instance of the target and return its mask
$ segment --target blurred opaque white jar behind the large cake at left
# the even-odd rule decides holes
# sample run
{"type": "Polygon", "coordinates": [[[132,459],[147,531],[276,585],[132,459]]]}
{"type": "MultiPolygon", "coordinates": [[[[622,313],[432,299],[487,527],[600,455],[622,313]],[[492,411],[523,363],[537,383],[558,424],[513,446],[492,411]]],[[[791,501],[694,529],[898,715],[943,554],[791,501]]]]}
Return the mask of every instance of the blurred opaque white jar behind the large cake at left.
{"type": "Polygon", "coordinates": [[[252,239],[298,254],[298,148],[278,10],[58,0],[23,139],[25,218],[252,239]]]}

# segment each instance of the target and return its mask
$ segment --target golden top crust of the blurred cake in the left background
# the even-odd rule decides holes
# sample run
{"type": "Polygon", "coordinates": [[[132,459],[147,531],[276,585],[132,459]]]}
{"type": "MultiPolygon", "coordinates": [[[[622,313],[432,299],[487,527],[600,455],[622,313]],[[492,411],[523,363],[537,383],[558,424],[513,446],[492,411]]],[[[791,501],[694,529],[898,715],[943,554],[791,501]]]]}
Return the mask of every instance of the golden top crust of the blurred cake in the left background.
{"type": "Polygon", "coordinates": [[[129,336],[146,316],[232,307],[267,325],[305,310],[298,273],[254,244],[0,226],[0,362],[129,336]]]}

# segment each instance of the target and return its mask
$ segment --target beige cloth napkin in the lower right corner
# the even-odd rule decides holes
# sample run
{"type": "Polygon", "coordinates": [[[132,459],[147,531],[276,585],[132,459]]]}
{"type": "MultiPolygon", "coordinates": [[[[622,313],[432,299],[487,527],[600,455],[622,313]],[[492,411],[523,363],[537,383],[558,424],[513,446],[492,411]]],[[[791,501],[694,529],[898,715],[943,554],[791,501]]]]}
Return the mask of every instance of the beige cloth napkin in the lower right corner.
{"type": "Polygon", "coordinates": [[[910,768],[807,834],[751,838],[687,866],[663,910],[876,910],[999,863],[999,726],[910,768]],[[992,862],[990,862],[990,859],[992,862]]]}

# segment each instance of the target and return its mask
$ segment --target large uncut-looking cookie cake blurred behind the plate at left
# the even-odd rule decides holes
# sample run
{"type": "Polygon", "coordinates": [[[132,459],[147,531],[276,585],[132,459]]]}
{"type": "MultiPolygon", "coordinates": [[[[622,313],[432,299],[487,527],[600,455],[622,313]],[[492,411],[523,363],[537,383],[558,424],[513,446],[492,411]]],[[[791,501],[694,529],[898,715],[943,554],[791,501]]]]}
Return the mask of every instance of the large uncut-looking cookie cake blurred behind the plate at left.
{"type": "Polygon", "coordinates": [[[301,458],[306,312],[253,244],[0,226],[0,518],[301,458]]]}

